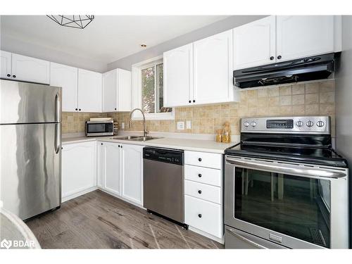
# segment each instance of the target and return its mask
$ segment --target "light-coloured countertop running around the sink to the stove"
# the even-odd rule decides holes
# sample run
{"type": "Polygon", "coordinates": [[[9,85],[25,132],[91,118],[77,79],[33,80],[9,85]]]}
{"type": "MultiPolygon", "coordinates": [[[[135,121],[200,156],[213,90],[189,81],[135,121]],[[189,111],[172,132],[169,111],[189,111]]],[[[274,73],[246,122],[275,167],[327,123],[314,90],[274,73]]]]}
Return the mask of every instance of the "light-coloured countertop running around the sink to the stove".
{"type": "MultiPolygon", "coordinates": [[[[119,137],[119,136],[114,136],[119,137]]],[[[184,151],[202,151],[209,153],[225,153],[225,149],[234,146],[237,142],[218,143],[213,140],[200,139],[182,139],[163,137],[160,139],[151,139],[146,142],[137,142],[133,140],[111,139],[111,137],[66,137],[62,139],[62,144],[72,144],[79,142],[116,142],[122,144],[142,145],[142,146],[156,146],[167,149],[182,149],[184,151]]]]}

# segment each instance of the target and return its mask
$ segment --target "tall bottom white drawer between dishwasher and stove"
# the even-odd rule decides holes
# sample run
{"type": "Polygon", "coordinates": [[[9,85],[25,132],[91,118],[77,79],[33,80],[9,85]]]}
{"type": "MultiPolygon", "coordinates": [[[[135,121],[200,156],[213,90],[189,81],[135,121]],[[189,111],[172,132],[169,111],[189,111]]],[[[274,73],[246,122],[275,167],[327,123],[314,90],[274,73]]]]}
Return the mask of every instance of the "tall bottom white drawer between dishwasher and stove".
{"type": "Polygon", "coordinates": [[[185,195],[184,222],[191,227],[222,238],[222,207],[218,204],[185,195]]]}

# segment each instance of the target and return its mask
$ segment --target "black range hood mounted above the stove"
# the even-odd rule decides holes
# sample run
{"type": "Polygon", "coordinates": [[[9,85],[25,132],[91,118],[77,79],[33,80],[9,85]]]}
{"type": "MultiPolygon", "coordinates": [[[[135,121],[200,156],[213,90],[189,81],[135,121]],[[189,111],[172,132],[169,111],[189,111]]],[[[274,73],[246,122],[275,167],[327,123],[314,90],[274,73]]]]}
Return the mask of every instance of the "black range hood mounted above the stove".
{"type": "Polygon", "coordinates": [[[327,79],[334,72],[336,59],[339,54],[324,54],[234,70],[234,85],[244,89],[327,79]]]}

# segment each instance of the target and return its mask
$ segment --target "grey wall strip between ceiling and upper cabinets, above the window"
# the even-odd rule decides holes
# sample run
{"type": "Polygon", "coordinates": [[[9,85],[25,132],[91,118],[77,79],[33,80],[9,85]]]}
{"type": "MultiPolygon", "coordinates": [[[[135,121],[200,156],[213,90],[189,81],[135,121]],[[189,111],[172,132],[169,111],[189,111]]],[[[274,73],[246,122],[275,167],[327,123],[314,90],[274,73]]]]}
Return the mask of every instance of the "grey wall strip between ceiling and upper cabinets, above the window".
{"type": "MultiPolygon", "coordinates": [[[[139,51],[137,54],[120,58],[118,61],[109,63],[108,69],[113,70],[115,68],[122,68],[125,70],[131,70],[131,65],[134,63],[139,63],[149,58],[162,55],[163,52],[170,51],[170,49],[175,49],[178,46],[183,46],[185,44],[195,42],[196,40],[209,37],[213,34],[230,30],[234,27],[238,27],[239,25],[244,25],[260,18],[264,18],[265,16],[267,15],[232,15],[230,18],[225,18],[224,20],[207,25],[206,27],[201,27],[199,30],[194,30],[187,34],[183,34],[175,39],[170,39],[167,42],[163,42],[144,51],[139,51]]],[[[163,34],[163,32],[161,32],[161,34],[163,34]]]]}

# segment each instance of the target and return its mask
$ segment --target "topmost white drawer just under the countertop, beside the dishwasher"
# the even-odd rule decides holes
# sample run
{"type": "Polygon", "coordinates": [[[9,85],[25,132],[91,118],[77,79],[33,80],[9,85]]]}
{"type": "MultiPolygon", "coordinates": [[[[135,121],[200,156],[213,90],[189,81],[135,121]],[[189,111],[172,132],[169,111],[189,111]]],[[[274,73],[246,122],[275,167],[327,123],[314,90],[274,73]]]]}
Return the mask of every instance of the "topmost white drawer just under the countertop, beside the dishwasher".
{"type": "Polygon", "coordinates": [[[201,167],[222,168],[222,154],[184,151],[184,163],[201,167]]]}

